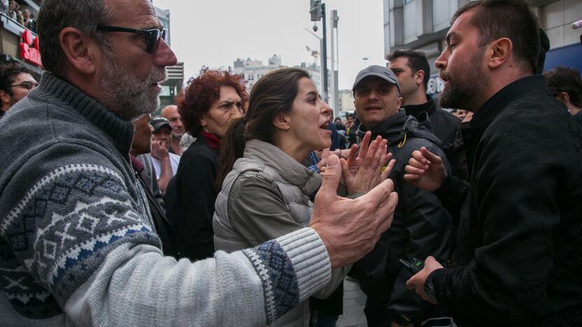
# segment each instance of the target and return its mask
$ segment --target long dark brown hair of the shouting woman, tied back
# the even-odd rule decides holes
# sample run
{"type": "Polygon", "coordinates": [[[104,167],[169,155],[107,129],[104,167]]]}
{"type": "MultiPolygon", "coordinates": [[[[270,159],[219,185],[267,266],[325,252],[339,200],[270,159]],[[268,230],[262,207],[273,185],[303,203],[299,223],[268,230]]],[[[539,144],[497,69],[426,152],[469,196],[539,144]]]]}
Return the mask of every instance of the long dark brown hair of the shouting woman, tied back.
{"type": "Polygon", "coordinates": [[[234,161],[243,157],[246,141],[273,143],[273,121],[277,115],[292,110],[301,78],[309,78],[309,73],[301,68],[281,68],[267,73],[253,85],[246,115],[234,120],[222,138],[216,189],[222,187],[234,161]]]}

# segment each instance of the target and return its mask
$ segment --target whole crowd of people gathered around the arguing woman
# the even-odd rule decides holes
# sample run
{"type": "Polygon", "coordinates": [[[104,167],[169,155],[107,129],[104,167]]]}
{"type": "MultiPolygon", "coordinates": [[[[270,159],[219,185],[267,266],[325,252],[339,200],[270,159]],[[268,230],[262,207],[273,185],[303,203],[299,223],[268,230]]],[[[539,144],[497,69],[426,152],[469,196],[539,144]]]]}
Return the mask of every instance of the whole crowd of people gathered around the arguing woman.
{"type": "Polygon", "coordinates": [[[525,1],[457,10],[438,103],[397,50],[345,121],[301,68],[152,117],[148,0],[44,0],[38,35],[40,83],[0,67],[0,325],[335,326],[346,275],[368,326],[582,325],[582,81],[525,1]]]}

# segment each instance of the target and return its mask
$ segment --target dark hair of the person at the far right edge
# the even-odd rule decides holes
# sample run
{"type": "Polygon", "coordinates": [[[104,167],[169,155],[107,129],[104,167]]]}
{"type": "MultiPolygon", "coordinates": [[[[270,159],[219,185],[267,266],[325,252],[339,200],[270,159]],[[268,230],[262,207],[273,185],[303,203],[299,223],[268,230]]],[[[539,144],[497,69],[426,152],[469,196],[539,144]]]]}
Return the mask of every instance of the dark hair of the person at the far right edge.
{"type": "Polygon", "coordinates": [[[566,92],[570,96],[570,102],[575,107],[582,108],[582,78],[578,69],[556,67],[546,71],[544,76],[552,92],[566,92]]]}

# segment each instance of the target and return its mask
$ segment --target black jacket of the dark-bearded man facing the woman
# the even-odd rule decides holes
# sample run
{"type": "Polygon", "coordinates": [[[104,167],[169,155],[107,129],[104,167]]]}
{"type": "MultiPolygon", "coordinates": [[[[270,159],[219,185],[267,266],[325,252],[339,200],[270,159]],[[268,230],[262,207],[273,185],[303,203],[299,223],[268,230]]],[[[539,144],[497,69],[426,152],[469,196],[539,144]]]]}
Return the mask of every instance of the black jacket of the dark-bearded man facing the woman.
{"type": "Polygon", "coordinates": [[[580,126],[534,75],[463,138],[469,183],[437,191],[460,224],[453,268],[432,273],[439,302],[459,326],[582,326],[580,126]]]}

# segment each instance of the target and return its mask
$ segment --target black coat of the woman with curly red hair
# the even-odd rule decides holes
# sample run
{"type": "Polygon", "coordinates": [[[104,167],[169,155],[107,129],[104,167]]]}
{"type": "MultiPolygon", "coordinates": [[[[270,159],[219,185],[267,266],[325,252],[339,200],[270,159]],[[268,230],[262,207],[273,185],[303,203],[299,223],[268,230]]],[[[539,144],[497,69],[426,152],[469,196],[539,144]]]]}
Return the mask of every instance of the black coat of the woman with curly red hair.
{"type": "Polygon", "coordinates": [[[175,226],[182,255],[192,261],[214,255],[217,167],[218,151],[199,136],[182,154],[176,176],[166,190],[166,214],[175,226]]]}

